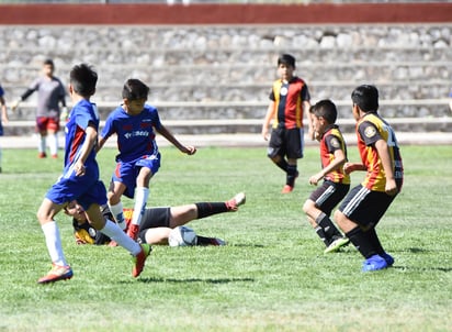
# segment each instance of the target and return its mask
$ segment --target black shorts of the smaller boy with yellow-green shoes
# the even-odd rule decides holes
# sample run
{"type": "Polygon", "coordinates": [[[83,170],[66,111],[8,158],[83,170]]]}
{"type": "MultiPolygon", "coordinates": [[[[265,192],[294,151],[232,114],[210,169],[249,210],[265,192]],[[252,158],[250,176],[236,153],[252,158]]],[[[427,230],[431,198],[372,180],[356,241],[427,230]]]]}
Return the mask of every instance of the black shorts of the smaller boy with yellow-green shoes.
{"type": "Polygon", "coordinates": [[[309,199],[316,203],[325,214],[330,215],[332,209],[339,204],[350,189],[350,185],[336,184],[325,180],[324,184],[314,190],[309,199]]]}

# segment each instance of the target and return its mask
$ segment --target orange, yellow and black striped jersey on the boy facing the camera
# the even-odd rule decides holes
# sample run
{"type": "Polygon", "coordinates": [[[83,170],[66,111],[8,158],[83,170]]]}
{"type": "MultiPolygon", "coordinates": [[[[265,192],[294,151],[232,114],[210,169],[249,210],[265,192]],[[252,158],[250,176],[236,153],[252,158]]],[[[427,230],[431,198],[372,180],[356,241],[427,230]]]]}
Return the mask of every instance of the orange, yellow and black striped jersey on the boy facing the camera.
{"type": "Polygon", "coordinates": [[[303,128],[303,101],[310,100],[303,79],[295,76],[289,82],[275,80],[269,98],[274,101],[275,108],[273,128],[303,128]]]}

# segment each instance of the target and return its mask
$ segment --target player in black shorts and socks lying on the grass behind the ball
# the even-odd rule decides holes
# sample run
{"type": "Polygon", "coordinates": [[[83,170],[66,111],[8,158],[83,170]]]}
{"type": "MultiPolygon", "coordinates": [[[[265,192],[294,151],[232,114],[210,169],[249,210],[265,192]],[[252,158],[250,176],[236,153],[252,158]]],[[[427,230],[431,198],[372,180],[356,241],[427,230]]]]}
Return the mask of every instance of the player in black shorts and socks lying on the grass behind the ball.
{"type": "MultiPolygon", "coordinates": [[[[147,208],[139,225],[138,242],[166,245],[173,229],[213,214],[235,212],[239,206],[245,204],[245,193],[239,192],[226,202],[197,202],[179,207],[147,208]]],[[[83,208],[76,201],[69,203],[65,212],[74,218],[72,225],[78,244],[101,245],[111,242],[109,236],[97,232],[89,225],[83,208]]],[[[133,212],[133,209],[124,209],[127,226],[132,221],[133,212]]],[[[111,220],[112,215],[108,206],[102,207],[102,213],[111,220]]],[[[196,241],[193,243],[193,245],[224,244],[225,242],[221,239],[200,235],[196,236],[196,241]]]]}

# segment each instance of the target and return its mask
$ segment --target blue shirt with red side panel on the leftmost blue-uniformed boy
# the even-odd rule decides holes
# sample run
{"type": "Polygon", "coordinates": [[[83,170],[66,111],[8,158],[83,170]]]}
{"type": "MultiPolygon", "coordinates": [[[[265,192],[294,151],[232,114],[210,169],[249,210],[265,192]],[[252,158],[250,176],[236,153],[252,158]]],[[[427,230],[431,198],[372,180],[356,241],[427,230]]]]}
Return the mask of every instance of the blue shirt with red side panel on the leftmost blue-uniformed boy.
{"type": "MultiPolygon", "coordinates": [[[[82,99],[74,106],[66,123],[65,169],[74,165],[80,156],[89,124],[93,125],[97,131],[99,130],[98,108],[90,101],[82,99]]],[[[95,148],[91,150],[84,161],[86,167],[89,167],[90,164],[97,167],[95,148]]]]}

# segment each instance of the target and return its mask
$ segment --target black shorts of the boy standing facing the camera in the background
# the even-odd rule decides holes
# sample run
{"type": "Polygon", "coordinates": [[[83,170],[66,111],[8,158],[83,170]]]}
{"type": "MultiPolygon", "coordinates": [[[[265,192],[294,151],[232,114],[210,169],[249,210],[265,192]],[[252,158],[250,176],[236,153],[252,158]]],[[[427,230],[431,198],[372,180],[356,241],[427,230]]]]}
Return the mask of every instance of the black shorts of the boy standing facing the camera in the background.
{"type": "Polygon", "coordinates": [[[303,128],[273,129],[270,136],[269,150],[267,155],[270,158],[275,156],[286,156],[291,159],[303,158],[304,130],[303,128]]]}

